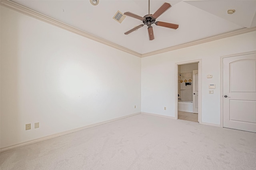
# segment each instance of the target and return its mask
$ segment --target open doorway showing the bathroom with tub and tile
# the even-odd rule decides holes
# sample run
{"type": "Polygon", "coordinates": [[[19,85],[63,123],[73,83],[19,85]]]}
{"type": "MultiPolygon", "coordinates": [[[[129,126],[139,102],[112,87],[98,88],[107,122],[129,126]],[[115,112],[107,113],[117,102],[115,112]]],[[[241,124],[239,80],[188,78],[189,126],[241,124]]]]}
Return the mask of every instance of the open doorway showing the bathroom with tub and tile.
{"type": "Polygon", "coordinates": [[[177,67],[177,104],[176,118],[186,121],[200,122],[200,61],[178,63],[177,67]]]}

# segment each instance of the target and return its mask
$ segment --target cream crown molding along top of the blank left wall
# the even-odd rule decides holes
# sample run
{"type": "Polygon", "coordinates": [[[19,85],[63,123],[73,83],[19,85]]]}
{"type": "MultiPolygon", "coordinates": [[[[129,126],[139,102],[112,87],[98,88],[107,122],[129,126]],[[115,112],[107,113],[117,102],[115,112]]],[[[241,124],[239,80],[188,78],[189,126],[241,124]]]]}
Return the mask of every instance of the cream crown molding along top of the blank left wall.
{"type": "Polygon", "coordinates": [[[137,57],[141,57],[141,54],[140,53],[136,53],[135,51],[132,51],[132,50],[129,50],[129,49],[126,49],[120,45],[117,45],[117,44],[114,44],[114,43],[111,43],[109,41],[106,41],[104,39],[101,39],[99,37],[96,37],[94,35],[91,35],[89,33],[86,33],[80,29],[76,29],[75,27],[72,27],[70,25],[67,25],[65,23],[62,23],[58,20],[54,20],[53,18],[50,18],[48,16],[45,16],[43,14],[40,14],[34,10],[31,10],[29,8],[26,8],[22,5],[19,5],[15,2],[12,2],[12,1],[9,1],[9,0],[1,0],[1,6],[4,6],[6,8],[9,8],[11,10],[14,10],[16,12],[20,12],[22,14],[25,14],[27,16],[30,16],[30,17],[33,17],[33,18],[36,18],[40,21],[44,21],[46,23],[50,23],[51,25],[54,25],[54,26],[57,26],[57,27],[60,27],[62,29],[65,29],[67,31],[70,31],[72,33],[76,33],[78,35],[81,35],[83,37],[86,37],[86,38],[89,38],[89,39],[92,39],[94,41],[97,41],[99,43],[102,43],[104,45],[108,45],[110,47],[113,47],[115,49],[118,49],[118,50],[121,50],[121,51],[124,51],[126,53],[129,53],[129,54],[132,54],[132,55],[135,55],[137,57]]]}

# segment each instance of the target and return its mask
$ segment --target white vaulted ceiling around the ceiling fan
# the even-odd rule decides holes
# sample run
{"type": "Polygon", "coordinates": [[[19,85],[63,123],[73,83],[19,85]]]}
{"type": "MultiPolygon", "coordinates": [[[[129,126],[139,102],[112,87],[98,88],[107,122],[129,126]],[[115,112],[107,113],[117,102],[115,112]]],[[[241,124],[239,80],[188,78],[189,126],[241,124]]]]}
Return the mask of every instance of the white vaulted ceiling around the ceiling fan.
{"type": "Polygon", "coordinates": [[[89,0],[12,0],[22,6],[120,45],[145,54],[176,45],[256,26],[256,0],[150,0],[150,14],[168,2],[172,5],[157,21],[175,23],[169,29],[153,25],[155,39],[149,41],[147,26],[128,35],[124,32],[142,21],[126,16],[122,23],[114,14],[132,12],[148,14],[148,0],[100,0],[97,6],[89,0]],[[235,9],[232,15],[228,9],[235,9]]]}

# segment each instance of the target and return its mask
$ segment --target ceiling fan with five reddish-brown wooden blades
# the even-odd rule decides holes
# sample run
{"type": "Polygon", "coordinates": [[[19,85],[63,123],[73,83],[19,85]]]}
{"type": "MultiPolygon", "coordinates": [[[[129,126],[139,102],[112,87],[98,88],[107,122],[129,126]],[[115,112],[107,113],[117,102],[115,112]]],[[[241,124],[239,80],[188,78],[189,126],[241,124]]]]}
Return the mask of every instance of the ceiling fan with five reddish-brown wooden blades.
{"type": "Polygon", "coordinates": [[[133,32],[133,31],[139,29],[140,27],[143,27],[144,25],[147,25],[148,26],[149,40],[153,40],[154,39],[154,33],[153,33],[153,27],[152,27],[153,23],[158,25],[158,26],[177,29],[179,27],[179,25],[177,25],[177,24],[162,22],[162,21],[156,21],[156,18],[158,18],[160,15],[162,15],[170,7],[172,7],[171,4],[165,2],[154,14],[150,14],[150,12],[149,12],[150,0],[148,0],[148,14],[145,15],[144,17],[138,16],[138,15],[133,14],[131,12],[125,12],[124,15],[136,18],[138,20],[142,20],[143,24],[138,25],[138,26],[130,29],[129,31],[125,32],[124,34],[127,35],[127,34],[133,32]]]}

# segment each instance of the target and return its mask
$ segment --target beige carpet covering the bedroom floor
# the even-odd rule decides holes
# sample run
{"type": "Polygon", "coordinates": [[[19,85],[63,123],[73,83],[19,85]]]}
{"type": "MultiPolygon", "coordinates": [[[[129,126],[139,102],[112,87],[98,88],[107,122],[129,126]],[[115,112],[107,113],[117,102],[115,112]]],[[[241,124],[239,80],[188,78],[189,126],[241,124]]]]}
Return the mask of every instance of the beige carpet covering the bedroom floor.
{"type": "Polygon", "coordinates": [[[255,170],[256,133],[139,114],[0,158],[1,170],[255,170]]]}

